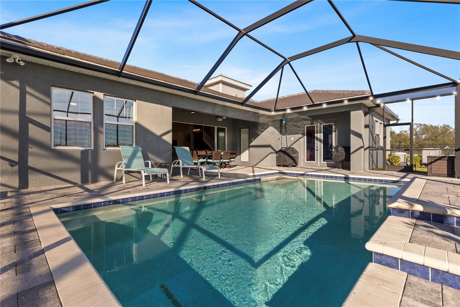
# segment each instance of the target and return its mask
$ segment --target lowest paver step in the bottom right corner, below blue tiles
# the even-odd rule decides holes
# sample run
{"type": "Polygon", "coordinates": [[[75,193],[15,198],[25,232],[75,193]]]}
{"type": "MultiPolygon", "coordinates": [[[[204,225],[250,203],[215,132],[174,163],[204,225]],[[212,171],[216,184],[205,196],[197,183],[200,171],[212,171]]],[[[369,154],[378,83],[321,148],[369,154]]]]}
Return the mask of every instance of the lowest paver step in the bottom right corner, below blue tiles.
{"type": "Polygon", "coordinates": [[[369,263],[342,306],[460,306],[460,290],[369,263]]]}

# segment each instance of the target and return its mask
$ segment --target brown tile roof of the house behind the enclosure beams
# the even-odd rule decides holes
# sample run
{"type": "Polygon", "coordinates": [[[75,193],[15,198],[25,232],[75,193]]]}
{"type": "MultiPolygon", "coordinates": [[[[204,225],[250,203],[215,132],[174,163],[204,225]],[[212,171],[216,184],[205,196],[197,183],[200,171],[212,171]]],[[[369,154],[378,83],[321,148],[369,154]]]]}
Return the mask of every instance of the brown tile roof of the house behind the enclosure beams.
{"type": "MultiPolygon", "coordinates": [[[[56,53],[59,55],[68,56],[74,59],[79,59],[82,61],[86,61],[86,62],[95,64],[95,65],[101,65],[101,66],[109,67],[112,69],[118,69],[120,67],[120,62],[117,62],[117,61],[100,58],[100,57],[97,57],[91,54],[81,53],[81,52],[70,50],[70,49],[63,48],[63,47],[57,47],[57,46],[46,44],[40,41],[34,41],[32,39],[24,38],[18,35],[11,35],[3,31],[0,31],[0,37],[4,39],[8,39],[10,41],[16,41],[18,43],[27,45],[29,47],[34,47],[34,48],[43,50],[45,52],[56,53]]],[[[170,84],[175,84],[175,85],[182,86],[182,87],[189,88],[189,89],[196,89],[196,86],[197,86],[196,82],[178,78],[178,77],[173,77],[173,76],[170,76],[170,75],[158,72],[158,71],[151,71],[151,70],[148,70],[142,67],[138,67],[138,66],[126,65],[124,68],[124,71],[135,74],[135,75],[139,75],[142,77],[147,77],[147,78],[151,78],[154,80],[158,80],[158,81],[162,81],[162,82],[166,82],[170,84]]],[[[205,93],[221,96],[224,98],[229,98],[229,99],[236,100],[236,101],[243,101],[243,98],[241,97],[236,97],[230,94],[221,93],[219,91],[208,89],[206,87],[203,87],[201,91],[205,93]]],[[[309,93],[311,97],[313,98],[313,100],[315,101],[315,103],[329,101],[329,100],[346,99],[346,98],[370,94],[369,91],[364,91],[364,90],[312,90],[309,93]]],[[[249,100],[248,104],[272,109],[273,106],[275,106],[275,98],[261,100],[261,101],[249,100]]],[[[305,104],[311,104],[311,101],[308,98],[307,94],[298,93],[298,94],[278,97],[276,108],[279,109],[279,108],[287,108],[287,107],[293,107],[293,106],[302,106],[305,104]]]]}

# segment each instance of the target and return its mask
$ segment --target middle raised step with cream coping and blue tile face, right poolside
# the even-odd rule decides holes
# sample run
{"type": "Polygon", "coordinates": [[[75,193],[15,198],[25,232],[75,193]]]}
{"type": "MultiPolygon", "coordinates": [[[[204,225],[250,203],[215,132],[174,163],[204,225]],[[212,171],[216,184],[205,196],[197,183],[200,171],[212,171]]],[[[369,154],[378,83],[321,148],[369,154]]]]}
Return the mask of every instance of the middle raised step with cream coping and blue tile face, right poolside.
{"type": "Polygon", "coordinates": [[[389,216],[366,249],[373,262],[460,289],[460,228],[389,216]]]}

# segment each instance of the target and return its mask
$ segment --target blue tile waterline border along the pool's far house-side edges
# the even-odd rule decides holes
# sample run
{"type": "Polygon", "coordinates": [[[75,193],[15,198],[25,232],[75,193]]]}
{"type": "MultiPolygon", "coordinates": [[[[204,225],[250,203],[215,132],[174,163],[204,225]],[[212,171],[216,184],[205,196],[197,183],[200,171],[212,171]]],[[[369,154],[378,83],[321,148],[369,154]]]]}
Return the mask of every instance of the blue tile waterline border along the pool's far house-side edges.
{"type": "MultiPolygon", "coordinates": [[[[228,186],[237,185],[237,184],[243,184],[243,183],[259,182],[261,180],[261,177],[274,176],[274,175],[305,176],[305,177],[329,178],[329,179],[343,179],[343,180],[352,180],[352,181],[366,181],[366,182],[373,182],[373,183],[398,183],[398,184],[407,183],[407,181],[402,181],[402,180],[389,180],[389,179],[377,179],[377,178],[362,178],[362,177],[350,177],[350,176],[334,176],[334,175],[321,175],[321,174],[273,171],[273,172],[270,172],[270,173],[256,174],[256,175],[253,176],[253,177],[255,177],[253,179],[241,180],[241,181],[230,182],[230,183],[211,184],[211,185],[208,185],[208,186],[204,186],[202,188],[203,189],[216,189],[216,188],[223,188],[223,187],[228,187],[228,186]]],[[[112,200],[112,201],[98,201],[98,202],[88,203],[88,204],[83,204],[83,205],[75,205],[75,206],[69,206],[69,207],[63,207],[63,208],[53,208],[53,211],[56,214],[74,212],[74,211],[80,211],[80,210],[85,210],[85,209],[92,209],[92,208],[98,208],[98,207],[105,207],[105,206],[111,206],[111,205],[117,205],[117,204],[130,203],[130,202],[133,202],[133,201],[141,201],[141,200],[143,201],[143,200],[153,199],[153,198],[158,198],[158,197],[190,193],[190,192],[198,191],[199,189],[200,188],[181,189],[181,190],[169,191],[169,192],[163,192],[163,193],[155,193],[155,194],[149,194],[149,195],[142,195],[142,196],[135,196],[135,197],[129,197],[129,198],[115,199],[115,200],[112,200]]]]}

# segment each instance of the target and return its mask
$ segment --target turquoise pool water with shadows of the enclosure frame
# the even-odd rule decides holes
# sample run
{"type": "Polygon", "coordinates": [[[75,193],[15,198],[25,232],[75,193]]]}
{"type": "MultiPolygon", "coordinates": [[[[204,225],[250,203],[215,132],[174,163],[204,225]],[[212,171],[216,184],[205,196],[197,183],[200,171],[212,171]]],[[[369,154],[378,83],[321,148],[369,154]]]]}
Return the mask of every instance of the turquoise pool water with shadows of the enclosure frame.
{"type": "Polygon", "coordinates": [[[58,217],[125,307],[339,306],[399,189],[276,177],[58,217]]]}

